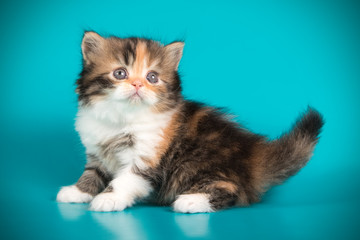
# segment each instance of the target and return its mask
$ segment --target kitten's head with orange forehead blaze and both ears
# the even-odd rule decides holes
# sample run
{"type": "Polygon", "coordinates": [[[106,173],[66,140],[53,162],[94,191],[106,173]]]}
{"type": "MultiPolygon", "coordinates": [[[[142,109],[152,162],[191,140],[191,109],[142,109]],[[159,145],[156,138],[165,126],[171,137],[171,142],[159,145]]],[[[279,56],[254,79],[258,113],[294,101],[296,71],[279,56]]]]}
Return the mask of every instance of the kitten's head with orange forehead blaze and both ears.
{"type": "Polygon", "coordinates": [[[86,32],[83,71],[77,80],[82,105],[111,101],[167,110],[181,100],[177,68],[184,43],[163,46],[143,38],[103,38],[86,32]]]}

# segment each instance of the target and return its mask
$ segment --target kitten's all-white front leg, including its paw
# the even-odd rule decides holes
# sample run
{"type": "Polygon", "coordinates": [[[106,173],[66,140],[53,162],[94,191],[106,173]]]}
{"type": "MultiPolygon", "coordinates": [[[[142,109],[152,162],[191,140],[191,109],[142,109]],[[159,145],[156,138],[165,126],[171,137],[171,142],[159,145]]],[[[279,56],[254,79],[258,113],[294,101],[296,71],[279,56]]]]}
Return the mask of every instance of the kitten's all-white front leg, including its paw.
{"type": "Polygon", "coordinates": [[[146,179],[132,170],[125,170],[91,201],[90,209],[101,212],[122,211],[137,199],[147,197],[151,191],[152,186],[146,179]]]}

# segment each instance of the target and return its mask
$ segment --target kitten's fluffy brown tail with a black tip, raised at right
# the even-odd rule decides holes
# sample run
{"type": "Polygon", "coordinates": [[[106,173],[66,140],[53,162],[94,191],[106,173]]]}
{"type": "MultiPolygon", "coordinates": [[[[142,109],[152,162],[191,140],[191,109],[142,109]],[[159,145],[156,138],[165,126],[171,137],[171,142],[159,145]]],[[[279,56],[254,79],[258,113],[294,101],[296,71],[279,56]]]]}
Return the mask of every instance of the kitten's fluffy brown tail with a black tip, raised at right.
{"type": "Polygon", "coordinates": [[[267,143],[261,163],[264,190],[294,175],[309,161],[323,125],[322,115],[309,107],[289,133],[267,143]]]}

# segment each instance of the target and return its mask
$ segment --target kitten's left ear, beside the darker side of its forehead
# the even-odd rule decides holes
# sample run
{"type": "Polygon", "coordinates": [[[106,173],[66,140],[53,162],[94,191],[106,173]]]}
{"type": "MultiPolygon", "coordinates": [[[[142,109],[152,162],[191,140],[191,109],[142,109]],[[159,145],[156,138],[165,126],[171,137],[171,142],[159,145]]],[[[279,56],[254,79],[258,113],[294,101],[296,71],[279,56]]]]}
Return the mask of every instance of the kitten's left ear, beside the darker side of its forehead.
{"type": "Polygon", "coordinates": [[[85,32],[81,51],[86,63],[91,63],[104,47],[105,39],[96,32],[85,32]]]}

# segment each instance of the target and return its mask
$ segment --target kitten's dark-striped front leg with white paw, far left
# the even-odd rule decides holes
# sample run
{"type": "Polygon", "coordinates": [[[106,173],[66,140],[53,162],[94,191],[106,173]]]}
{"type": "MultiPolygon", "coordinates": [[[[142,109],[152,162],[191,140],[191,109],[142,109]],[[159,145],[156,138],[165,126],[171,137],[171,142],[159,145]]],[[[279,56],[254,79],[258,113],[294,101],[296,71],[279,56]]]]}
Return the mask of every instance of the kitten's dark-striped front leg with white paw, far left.
{"type": "Polygon", "coordinates": [[[58,202],[84,203],[90,202],[95,195],[104,190],[111,180],[111,175],[100,162],[92,162],[85,166],[84,173],[75,185],[62,187],[56,197],[58,202]]]}

